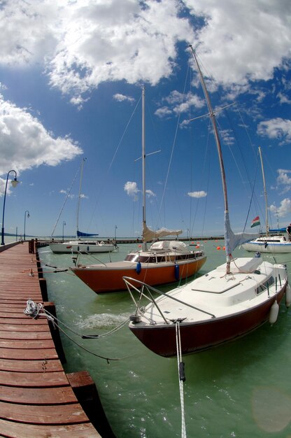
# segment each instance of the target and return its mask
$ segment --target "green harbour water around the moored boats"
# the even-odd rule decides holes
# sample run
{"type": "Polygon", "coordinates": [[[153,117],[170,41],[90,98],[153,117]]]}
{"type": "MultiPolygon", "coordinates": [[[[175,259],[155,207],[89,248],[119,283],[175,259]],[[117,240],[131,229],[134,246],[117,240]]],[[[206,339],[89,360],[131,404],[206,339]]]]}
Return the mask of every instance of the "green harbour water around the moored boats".
{"type": "MultiPolygon", "coordinates": [[[[204,243],[208,259],[201,274],[225,262],[217,250],[222,241],[204,243]]],[[[121,245],[111,257],[123,260],[134,245],[121,245]]],[[[71,266],[70,255],[41,248],[44,263],[71,266]]],[[[246,255],[242,248],[234,255],[246,255]]],[[[85,257],[85,256],[84,256],[85,257]]],[[[271,255],[264,258],[274,261],[271,255]]],[[[108,255],[99,255],[108,261],[108,255]]],[[[291,272],[291,254],[278,255],[291,272]]],[[[105,334],[134,310],[127,292],[96,295],[71,273],[45,274],[57,316],[82,334],[105,334]]],[[[185,361],[183,385],[188,438],[291,437],[291,311],[281,304],[278,321],[247,337],[185,361]]],[[[66,329],[65,329],[66,330],[66,329]]],[[[127,325],[101,339],[73,341],[105,358],[84,351],[62,335],[66,372],[86,369],[97,384],[106,416],[117,438],[181,437],[181,408],[176,358],[149,351],[127,325]]]]}

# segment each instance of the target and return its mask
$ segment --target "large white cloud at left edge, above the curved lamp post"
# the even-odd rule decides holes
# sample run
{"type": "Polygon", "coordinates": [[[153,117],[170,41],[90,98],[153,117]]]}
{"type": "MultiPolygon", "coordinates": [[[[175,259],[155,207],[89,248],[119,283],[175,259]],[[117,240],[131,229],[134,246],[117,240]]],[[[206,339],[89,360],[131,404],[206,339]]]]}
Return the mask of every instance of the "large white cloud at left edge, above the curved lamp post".
{"type": "Polygon", "coordinates": [[[69,137],[55,138],[26,108],[17,108],[1,95],[0,134],[0,175],[10,169],[19,174],[41,164],[57,166],[83,152],[78,143],[69,137]]]}

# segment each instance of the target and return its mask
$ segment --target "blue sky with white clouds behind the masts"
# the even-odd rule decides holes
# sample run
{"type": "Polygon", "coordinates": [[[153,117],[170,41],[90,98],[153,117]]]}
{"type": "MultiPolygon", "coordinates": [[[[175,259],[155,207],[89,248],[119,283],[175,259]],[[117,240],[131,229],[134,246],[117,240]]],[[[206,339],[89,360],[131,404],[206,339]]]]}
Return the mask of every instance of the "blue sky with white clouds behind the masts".
{"type": "Polygon", "coordinates": [[[271,0],[7,0],[0,3],[0,195],[5,231],[141,235],[141,87],[147,222],[222,234],[218,157],[187,47],[217,113],[234,231],[291,221],[291,3],[271,0]],[[137,160],[137,161],[136,161],[137,160]],[[242,168],[242,169],[241,169],[242,168]],[[253,203],[251,192],[255,179],[253,203]],[[13,178],[14,174],[10,174],[13,178]],[[75,182],[73,183],[75,179],[75,182]],[[73,183],[73,184],[72,184],[73,183]],[[69,192],[69,189],[71,191],[69,192]],[[62,213],[61,213],[62,212],[62,213]],[[57,218],[59,221],[57,222],[57,218]],[[57,222],[57,223],[56,223],[57,222]]]}

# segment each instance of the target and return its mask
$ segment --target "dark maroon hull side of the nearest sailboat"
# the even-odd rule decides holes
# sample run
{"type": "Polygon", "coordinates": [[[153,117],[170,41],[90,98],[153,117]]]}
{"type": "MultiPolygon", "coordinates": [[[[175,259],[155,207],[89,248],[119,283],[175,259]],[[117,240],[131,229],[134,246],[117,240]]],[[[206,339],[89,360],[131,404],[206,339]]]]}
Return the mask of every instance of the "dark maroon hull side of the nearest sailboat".
{"type": "MultiPolygon", "coordinates": [[[[285,286],[286,287],[286,286],[285,286]]],[[[271,306],[277,300],[280,304],[285,293],[283,287],[277,295],[253,309],[231,316],[211,318],[195,323],[180,323],[181,351],[185,354],[199,353],[233,341],[252,332],[267,322],[271,306]]],[[[143,325],[130,323],[129,329],[153,353],[166,358],[173,357],[176,351],[176,325],[143,325]]]]}

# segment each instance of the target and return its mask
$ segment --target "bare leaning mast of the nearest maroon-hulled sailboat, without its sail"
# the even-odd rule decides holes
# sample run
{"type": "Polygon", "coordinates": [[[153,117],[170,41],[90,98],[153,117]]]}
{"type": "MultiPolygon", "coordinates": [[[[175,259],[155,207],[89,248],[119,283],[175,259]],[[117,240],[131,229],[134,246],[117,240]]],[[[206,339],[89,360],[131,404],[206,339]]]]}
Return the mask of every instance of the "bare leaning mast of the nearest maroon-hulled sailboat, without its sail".
{"type": "MultiPolygon", "coordinates": [[[[217,126],[217,122],[216,122],[216,118],[215,118],[215,114],[213,112],[213,108],[211,105],[211,100],[209,98],[209,94],[205,85],[205,81],[204,81],[204,77],[202,75],[196,54],[192,48],[192,45],[189,45],[192,56],[194,58],[194,61],[196,63],[197,66],[197,71],[199,73],[199,78],[200,78],[200,82],[201,82],[201,86],[203,88],[204,91],[204,97],[206,99],[206,103],[207,103],[207,107],[208,107],[208,113],[210,115],[211,118],[211,123],[212,123],[212,127],[213,127],[213,132],[214,132],[214,136],[215,136],[215,142],[216,142],[216,146],[218,148],[218,158],[219,158],[219,162],[220,162],[220,174],[221,174],[221,179],[222,179],[222,189],[223,189],[223,196],[225,199],[225,213],[228,214],[228,201],[227,201],[227,184],[226,184],[226,179],[225,179],[225,165],[223,163],[223,158],[222,158],[222,150],[221,150],[221,145],[220,145],[220,138],[218,135],[218,126],[217,126]]],[[[227,274],[229,274],[230,271],[230,254],[227,254],[227,274]]]]}

